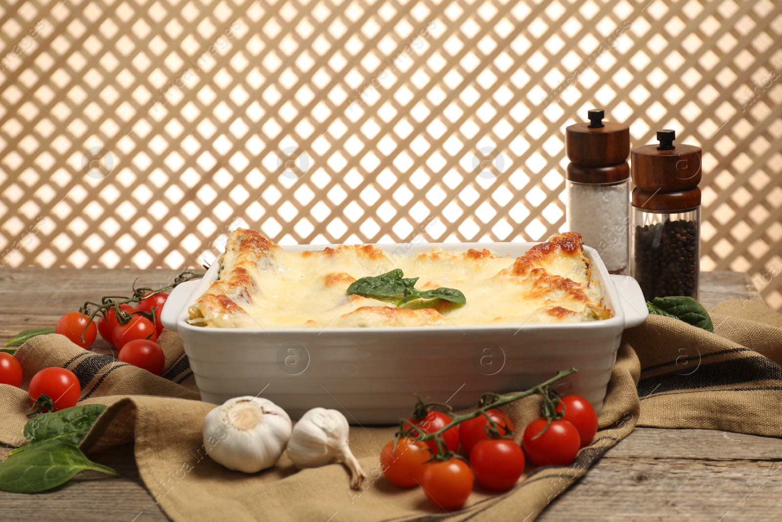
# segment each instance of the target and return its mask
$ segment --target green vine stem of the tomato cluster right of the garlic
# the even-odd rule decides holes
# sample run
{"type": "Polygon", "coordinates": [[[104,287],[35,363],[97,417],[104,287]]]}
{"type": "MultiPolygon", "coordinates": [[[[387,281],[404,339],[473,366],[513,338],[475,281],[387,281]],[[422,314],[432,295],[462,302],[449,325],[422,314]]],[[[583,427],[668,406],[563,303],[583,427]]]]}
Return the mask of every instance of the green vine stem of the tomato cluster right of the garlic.
{"type": "MultiPolygon", "coordinates": [[[[486,392],[481,395],[481,400],[479,402],[479,406],[477,409],[475,409],[472,412],[465,413],[464,415],[454,415],[451,419],[450,423],[446,426],[441,427],[439,430],[432,431],[430,433],[423,433],[423,430],[421,427],[416,426],[414,423],[411,423],[408,419],[400,419],[399,421],[399,433],[400,434],[407,434],[408,431],[418,432],[418,436],[415,436],[415,440],[417,441],[435,441],[435,444],[437,445],[437,455],[432,455],[432,459],[447,459],[450,458],[450,456],[453,455],[453,452],[445,452],[443,451],[443,448],[446,448],[445,441],[443,440],[443,434],[450,430],[450,428],[454,426],[458,426],[459,424],[465,422],[465,420],[474,419],[477,416],[486,416],[486,418],[489,418],[489,416],[486,414],[487,411],[493,408],[499,408],[500,406],[504,406],[507,404],[510,404],[513,401],[518,401],[518,399],[522,399],[525,397],[529,397],[530,395],[534,394],[541,394],[544,397],[544,401],[547,400],[548,402],[551,402],[551,398],[547,397],[547,394],[550,393],[551,390],[551,384],[557,382],[558,380],[562,379],[563,377],[569,376],[572,373],[576,373],[578,370],[575,368],[566,369],[566,370],[560,370],[557,372],[557,374],[551,379],[543,381],[543,383],[538,384],[537,386],[529,388],[529,390],[525,391],[519,391],[515,394],[510,395],[500,395],[496,394],[494,392],[486,392]],[[405,428],[405,425],[409,426],[411,429],[407,430],[405,428]]],[[[419,398],[418,401],[421,401],[419,398]]],[[[422,402],[422,401],[421,401],[422,402]]],[[[490,423],[493,424],[492,419],[490,419],[490,423]]],[[[396,437],[395,437],[396,439],[396,437]]],[[[395,445],[396,447],[396,445],[395,445]]]]}

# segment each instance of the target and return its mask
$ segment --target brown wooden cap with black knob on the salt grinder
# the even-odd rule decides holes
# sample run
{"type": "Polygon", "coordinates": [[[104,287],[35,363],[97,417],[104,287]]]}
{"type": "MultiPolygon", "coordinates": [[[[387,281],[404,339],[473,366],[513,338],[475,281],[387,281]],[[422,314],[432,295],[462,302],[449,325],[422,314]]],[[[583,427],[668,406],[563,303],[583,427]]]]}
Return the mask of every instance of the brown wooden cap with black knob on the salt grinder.
{"type": "Polygon", "coordinates": [[[630,154],[630,126],[602,121],[602,109],[590,109],[588,115],[589,123],[565,128],[568,159],[579,167],[608,167],[624,163],[630,154]]]}

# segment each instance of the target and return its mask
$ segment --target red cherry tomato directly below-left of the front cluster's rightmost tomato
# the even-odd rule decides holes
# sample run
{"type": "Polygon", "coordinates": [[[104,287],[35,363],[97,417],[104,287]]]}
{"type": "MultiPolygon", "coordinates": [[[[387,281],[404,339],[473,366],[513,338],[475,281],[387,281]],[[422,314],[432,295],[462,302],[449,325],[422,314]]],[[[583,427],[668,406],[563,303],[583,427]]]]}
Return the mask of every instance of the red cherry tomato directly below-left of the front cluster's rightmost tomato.
{"type": "Polygon", "coordinates": [[[567,420],[552,420],[547,430],[533,439],[545,427],[545,417],[538,417],[524,430],[527,459],[537,466],[567,466],[572,463],[581,447],[579,430],[567,420]]]}

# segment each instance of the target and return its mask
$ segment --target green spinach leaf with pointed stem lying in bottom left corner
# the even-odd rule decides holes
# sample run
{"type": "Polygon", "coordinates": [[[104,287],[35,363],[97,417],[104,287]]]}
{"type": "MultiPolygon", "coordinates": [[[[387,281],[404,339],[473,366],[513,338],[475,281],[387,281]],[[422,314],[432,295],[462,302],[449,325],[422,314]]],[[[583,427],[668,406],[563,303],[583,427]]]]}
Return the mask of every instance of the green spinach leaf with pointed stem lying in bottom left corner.
{"type": "Polygon", "coordinates": [[[85,470],[120,476],[116,470],[92,462],[74,445],[57,440],[37,442],[0,463],[0,490],[40,493],[65,484],[85,470]]]}

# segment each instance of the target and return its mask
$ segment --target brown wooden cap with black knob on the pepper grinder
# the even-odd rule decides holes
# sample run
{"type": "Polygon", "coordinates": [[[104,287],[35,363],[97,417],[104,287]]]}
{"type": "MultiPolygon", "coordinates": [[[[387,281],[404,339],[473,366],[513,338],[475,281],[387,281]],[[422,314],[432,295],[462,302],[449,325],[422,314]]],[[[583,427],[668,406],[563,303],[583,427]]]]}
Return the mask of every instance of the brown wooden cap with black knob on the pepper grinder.
{"type": "Polygon", "coordinates": [[[659,145],[633,149],[631,173],[633,183],[643,190],[681,192],[694,189],[701,182],[701,147],[677,143],[676,131],[657,131],[659,145]]]}

